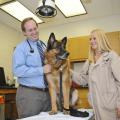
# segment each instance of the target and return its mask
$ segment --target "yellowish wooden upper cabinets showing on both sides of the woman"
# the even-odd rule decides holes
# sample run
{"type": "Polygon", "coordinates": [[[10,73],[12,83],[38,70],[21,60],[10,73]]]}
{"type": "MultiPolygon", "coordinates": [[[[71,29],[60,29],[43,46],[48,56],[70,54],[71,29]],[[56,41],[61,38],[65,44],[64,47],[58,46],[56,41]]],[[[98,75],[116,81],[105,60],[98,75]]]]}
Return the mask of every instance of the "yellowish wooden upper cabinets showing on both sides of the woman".
{"type": "MultiPolygon", "coordinates": [[[[120,55],[120,32],[108,32],[106,35],[112,49],[120,55]]],[[[83,61],[87,59],[89,52],[89,36],[69,38],[67,49],[70,52],[69,58],[71,62],[83,61]]]]}

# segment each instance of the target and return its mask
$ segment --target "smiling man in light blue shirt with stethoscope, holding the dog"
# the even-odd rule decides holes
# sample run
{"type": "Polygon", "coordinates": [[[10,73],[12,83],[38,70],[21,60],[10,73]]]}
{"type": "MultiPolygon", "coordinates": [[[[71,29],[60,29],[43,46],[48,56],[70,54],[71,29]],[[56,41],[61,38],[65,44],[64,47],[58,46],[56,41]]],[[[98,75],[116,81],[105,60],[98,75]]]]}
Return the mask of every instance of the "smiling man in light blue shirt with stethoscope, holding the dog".
{"type": "Polygon", "coordinates": [[[51,66],[43,63],[45,44],[39,41],[36,21],[33,18],[24,19],[21,29],[26,39],[13,53],[13,73],[19,83],[16,93],[18,116],[25,118],[50,110],[45,74],[51,72],[51,66]]]}

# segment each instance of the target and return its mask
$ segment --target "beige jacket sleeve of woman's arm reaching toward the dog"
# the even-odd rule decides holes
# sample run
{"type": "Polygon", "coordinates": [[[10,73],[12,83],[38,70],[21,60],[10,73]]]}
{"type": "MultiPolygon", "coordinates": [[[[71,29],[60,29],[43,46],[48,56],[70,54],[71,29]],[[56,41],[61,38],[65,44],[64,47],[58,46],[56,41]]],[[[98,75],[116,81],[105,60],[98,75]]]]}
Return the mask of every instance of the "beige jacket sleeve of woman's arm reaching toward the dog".
{"type": "Polygon", "coordinates": [[[80,73],[71,70],[73,81],[79,85],[86,85],[88,83],[89,61],[86,60],[80,73]]]}

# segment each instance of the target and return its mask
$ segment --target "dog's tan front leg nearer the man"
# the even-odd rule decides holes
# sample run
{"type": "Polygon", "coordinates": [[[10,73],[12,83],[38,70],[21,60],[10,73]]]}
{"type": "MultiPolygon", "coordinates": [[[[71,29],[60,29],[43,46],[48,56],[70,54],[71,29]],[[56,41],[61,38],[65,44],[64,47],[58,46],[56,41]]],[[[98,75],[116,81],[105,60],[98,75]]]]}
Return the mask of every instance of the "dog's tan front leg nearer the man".
{"type": "Polygon", "coordinates": [[[57,97],[56,97],[55,84],[54,84],[51,74],[47,75],[47,81],[49,85],[49,93],[51,97],[51,106],[52,106],[52,110],[49,112],[49,114],[53,115],[57,113],[57,97]]]}

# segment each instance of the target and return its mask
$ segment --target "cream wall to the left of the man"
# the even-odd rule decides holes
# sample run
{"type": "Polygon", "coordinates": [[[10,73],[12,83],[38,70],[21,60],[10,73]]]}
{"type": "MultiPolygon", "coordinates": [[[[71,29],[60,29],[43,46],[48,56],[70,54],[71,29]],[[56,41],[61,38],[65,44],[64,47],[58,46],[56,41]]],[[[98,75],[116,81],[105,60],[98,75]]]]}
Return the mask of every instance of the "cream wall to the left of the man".
{"type": "Polygon", "coordinates": [[[4,67],[5,75],[12,79],[13,48],[20,41],[20,33],[0,22],[0,66],[4,67]]]}

